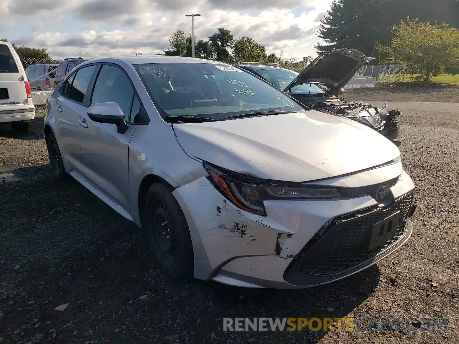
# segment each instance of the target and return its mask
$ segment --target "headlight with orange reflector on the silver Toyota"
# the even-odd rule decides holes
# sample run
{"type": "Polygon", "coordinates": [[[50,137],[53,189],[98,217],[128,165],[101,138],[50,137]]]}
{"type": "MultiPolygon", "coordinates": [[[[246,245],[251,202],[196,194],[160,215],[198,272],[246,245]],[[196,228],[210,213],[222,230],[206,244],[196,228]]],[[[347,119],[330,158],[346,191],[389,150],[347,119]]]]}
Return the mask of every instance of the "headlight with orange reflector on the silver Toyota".
{"type": "Polygon", "coordinates": [[[340,198],[335,188],[263,180],[203,163],[215,188],[234,205],[266,216],[264,200],[340,198]]]}

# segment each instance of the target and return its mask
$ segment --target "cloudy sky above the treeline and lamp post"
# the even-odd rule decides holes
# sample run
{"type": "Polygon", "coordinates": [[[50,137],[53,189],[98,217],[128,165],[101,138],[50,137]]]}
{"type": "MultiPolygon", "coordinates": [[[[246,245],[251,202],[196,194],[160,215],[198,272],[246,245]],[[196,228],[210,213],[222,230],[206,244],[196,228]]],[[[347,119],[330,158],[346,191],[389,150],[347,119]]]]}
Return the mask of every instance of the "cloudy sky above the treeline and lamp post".
{"type": "Polygon", "coordinates": [[[154,55],[176,30],[207,38],[217,28],[250,36],[269,54],[316,56],[320,19],[332,0],[0,0],[0,38],[69,56],[154,55]]]}

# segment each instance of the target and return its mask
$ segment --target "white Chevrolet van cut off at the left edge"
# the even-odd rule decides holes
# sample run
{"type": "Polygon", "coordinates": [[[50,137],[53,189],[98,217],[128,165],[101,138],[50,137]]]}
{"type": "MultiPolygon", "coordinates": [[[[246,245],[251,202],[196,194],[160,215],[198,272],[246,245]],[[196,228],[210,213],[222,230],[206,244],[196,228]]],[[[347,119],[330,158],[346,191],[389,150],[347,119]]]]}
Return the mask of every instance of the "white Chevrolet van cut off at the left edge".
{"type": "Polygon", "coordinates": [[[0,123],[14,131],[28,131],[35,106],[26,73],[10,43],[0,42],[0,123]]]}

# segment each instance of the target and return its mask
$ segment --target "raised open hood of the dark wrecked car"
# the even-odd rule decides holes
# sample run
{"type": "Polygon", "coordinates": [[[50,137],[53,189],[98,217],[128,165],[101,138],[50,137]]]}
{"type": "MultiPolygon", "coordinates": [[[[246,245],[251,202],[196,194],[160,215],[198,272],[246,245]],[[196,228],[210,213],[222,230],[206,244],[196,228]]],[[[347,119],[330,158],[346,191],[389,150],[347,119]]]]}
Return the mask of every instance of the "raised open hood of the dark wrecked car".
{"type": "Polygon", "coordinates": [[[337,49],[319,55],[285,89],[304,83],[322,83],[332,93],[344,87],[366,62],[374,60],[353,49],[337,49]]]}

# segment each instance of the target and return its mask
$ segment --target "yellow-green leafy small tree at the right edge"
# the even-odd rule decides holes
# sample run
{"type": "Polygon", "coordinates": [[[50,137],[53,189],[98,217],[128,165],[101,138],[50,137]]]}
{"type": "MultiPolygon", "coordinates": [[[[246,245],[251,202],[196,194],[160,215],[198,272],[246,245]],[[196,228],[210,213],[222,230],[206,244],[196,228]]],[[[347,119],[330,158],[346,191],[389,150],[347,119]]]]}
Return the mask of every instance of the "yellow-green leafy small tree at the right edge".
{"type": "Polygon", "coordinates": [[[394,25],[392,34],[390,46],[379,47],[388,56],[386,62],[403,63],[409,70],[417,69],[424,81],[445,69],[459,67],[459,30],[456,28],[408,18],[407,22],[394,25]]]}

